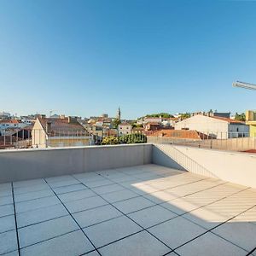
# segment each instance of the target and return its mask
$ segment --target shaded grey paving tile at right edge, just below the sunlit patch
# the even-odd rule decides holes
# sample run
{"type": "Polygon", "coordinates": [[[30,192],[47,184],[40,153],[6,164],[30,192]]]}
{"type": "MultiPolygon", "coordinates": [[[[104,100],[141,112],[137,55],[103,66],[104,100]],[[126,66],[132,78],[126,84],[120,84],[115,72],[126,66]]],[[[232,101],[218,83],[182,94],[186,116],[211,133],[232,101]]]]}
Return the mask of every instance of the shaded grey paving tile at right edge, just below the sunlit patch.
{"type": "Polygon", "coordinates": [[[230,220],[212,230],[212,233],[235,243],[248,252],[256,247],[256,225],[253,224],[230,220]]]}

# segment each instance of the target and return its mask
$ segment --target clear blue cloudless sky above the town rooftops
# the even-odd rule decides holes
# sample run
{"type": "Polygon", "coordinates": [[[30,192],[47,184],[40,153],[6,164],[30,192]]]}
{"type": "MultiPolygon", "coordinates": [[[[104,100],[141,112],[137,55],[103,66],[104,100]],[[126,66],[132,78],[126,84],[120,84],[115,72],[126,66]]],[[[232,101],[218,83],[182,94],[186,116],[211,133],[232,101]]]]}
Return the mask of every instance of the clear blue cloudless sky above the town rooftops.
{"type": "Polygon", "coordinates": [[[256,2],[0,1],[0,110],[256,108],[256,2]]]}

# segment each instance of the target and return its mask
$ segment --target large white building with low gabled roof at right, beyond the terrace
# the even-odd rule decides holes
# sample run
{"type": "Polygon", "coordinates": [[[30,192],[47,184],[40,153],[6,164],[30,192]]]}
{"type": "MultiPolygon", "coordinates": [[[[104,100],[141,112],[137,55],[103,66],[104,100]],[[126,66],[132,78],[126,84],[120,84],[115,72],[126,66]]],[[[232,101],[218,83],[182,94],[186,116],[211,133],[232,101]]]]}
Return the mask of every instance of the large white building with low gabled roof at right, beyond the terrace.
{"type": "Polygon", "coordinates": [[[177,122],[175,130],[195,130],[206,135],[221,138],[248,137],[249,126],[244,122],[217,116],[195,115],[177,122]]]}

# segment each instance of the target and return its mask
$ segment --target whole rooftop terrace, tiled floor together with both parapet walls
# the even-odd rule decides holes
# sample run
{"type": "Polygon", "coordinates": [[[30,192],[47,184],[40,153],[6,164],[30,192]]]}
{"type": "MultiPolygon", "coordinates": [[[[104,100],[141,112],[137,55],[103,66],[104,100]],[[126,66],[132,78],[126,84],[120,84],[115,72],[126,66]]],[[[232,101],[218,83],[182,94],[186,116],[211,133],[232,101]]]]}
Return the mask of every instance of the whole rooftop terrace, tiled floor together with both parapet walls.
{"type": "Polygon", "coordinates": [[[256,255],[255,160],[152,144],[1,151],[0,255],[256,255]]]}

